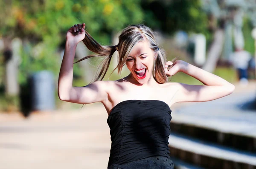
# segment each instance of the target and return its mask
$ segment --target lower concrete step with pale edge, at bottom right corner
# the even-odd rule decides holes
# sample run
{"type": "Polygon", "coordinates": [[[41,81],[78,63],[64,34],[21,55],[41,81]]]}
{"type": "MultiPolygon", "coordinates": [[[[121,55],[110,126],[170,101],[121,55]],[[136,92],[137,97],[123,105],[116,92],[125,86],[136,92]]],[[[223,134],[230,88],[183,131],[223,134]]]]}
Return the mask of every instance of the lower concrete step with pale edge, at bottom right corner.
{"type": "Polygon", "coordinates": [[[256,154],[184,135],[169,136],[170,155],[209,169],[256,169],[256,154]]]}

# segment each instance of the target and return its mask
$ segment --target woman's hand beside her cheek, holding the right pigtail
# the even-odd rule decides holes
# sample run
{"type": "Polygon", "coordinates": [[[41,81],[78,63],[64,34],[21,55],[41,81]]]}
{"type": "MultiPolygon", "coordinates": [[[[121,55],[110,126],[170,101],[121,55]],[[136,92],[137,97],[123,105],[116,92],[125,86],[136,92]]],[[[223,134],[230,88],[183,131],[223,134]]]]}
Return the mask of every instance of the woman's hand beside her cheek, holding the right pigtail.
{"type": "Polygon", "coordinates": [[[186,70],[187,66],[188,66],[188,63],[182,60],[177,60],[174,63],[171,61],[168,61],[165,63],[164,70],[165,70],[166,76],[173,76],[180,71],[186,70]],[[169,66],[171,68],[168,68],[169,66]]]}

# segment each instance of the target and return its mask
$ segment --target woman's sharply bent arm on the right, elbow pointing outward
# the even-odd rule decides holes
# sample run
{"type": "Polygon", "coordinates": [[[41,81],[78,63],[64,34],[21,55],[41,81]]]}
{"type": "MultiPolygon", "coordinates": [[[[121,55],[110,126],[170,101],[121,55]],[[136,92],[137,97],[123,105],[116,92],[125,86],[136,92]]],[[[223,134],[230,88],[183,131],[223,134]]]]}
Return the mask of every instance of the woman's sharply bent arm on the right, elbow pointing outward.
{"type": "MultiPolygon", "coordinates": [[[[172,65],[172,62],[167,62],[166,65],[172,65]]],[[[176,89],[173,103],[211,101],[230,95],[235,90],[234,85],[221,77],[181,60],[176,61],[169,71],[166,69],[166,74],[172,76],[180,71],[198,79],[204,85],[172,85],[176,89]]]]}

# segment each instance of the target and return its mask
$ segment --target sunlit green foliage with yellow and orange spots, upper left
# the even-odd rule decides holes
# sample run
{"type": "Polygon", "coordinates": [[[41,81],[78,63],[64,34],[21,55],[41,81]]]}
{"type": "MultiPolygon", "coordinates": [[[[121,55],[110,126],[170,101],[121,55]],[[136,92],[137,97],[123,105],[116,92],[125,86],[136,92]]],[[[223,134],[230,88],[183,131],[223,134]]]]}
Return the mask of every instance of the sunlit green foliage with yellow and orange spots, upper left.
{"type": "Polygon", "coordinates": [[[0,37],[23,41],[21,84],[35,71],[58,73],[58,49],[74,24],[86,23],[95,39],[108,44],[114,31],[143,20],[138,0],[5,0],[0,2],[0,11],[0,37]]]}

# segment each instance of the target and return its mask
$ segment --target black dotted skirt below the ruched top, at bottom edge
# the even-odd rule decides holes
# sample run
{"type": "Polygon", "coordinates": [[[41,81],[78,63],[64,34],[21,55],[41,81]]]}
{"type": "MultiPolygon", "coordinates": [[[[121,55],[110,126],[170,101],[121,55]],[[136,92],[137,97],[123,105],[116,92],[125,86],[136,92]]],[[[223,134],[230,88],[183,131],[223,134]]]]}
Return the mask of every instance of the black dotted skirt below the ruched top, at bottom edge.
{"type": "Polygon", "coordinates": [[[124,164],[113,164],[108,166],[108,169],[174,169],[174,164],[169,158],[157,156],[124,164]]]}

